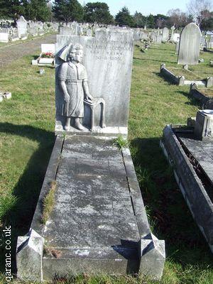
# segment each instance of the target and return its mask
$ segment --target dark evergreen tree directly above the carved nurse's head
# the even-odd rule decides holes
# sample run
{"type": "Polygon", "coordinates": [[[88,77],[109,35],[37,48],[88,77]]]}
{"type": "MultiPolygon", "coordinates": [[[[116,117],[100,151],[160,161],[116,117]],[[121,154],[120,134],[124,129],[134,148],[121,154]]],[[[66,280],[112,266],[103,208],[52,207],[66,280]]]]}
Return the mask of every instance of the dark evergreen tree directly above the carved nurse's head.
{"type": "Polygon", "coordinates": [[[84,9],[77,0],[55,0],[53,13],[58,21],[83,21],[84,9]]]}

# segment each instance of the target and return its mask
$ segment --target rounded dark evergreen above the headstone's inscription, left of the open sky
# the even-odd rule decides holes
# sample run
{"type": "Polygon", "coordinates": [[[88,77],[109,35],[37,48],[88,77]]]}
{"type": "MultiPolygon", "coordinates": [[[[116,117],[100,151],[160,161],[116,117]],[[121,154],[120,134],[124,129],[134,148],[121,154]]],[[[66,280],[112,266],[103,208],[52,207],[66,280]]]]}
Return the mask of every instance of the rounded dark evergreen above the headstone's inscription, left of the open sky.
{"type": "Polygon", "coordinates": [[[101,2],[87,3],[84,7],[84,20],[88,23],[109,24],[114,22],[114,18],[109,12],[109,6],[101,2]]]}

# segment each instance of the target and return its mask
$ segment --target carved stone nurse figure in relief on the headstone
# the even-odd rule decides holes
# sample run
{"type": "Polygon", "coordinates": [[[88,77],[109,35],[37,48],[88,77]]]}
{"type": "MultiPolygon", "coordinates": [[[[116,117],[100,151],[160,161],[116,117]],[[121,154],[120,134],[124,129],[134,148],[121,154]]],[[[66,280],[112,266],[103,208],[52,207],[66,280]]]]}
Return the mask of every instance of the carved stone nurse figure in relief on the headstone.
{"type": "Polygon", "coordinates": [[[69,51],[70,61],[62,63],[58,72],[59,84],[64,102],[62,116],[65,116],[65,130],[70,128],[70,119],[74,119],[74,127],[84,130],[80,119],[84,117],[84,99],[92,102],[89,94],[87,70],[81,64],[83,59],[82,45],[72,45],[69,51]]]}

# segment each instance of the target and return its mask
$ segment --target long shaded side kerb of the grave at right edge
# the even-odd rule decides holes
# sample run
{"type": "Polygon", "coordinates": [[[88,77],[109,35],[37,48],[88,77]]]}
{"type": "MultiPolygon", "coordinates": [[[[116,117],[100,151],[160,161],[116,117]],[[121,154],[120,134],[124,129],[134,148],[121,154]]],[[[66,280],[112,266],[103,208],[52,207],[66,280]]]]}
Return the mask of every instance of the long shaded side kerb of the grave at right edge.
{"type": "Polygon", "coordinates": [[[171,126],[165,126],[160,147],[173,167],[175,180],[213,253],[213,204],[171,126]]]}

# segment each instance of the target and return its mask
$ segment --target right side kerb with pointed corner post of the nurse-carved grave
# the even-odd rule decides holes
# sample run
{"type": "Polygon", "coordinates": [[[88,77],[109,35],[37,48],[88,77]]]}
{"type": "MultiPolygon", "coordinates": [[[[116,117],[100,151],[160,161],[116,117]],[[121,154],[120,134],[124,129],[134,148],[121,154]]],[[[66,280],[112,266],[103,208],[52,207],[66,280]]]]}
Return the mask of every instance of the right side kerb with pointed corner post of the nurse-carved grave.
{"type": "Polygon", "coordinates": [[[122,148],[122,155],[124,158],[133,210],[136,216],[139,234],[141,236],[141,244],[139,244],[138,251],[140,259],[139,272],[148,275],[152,279],[160,280],[163,275],[165,263],[165,241],[158,240],[151,233],[129,148],[122,148]]]}

